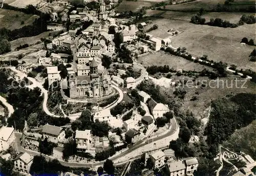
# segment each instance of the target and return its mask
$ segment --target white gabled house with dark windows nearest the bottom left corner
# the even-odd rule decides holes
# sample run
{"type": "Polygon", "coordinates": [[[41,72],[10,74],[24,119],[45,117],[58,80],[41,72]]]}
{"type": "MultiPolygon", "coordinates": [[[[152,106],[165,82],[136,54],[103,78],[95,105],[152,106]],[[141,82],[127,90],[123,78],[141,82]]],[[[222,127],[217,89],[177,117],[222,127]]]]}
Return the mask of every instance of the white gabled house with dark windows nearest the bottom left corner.
{"type": "Polygon", "coordinates": [[[33,156],[27,152],[19,153],[19,155],[13,160],[14,170],[23,174],[29,174],[31,164],[33,163],[33,156]]]}

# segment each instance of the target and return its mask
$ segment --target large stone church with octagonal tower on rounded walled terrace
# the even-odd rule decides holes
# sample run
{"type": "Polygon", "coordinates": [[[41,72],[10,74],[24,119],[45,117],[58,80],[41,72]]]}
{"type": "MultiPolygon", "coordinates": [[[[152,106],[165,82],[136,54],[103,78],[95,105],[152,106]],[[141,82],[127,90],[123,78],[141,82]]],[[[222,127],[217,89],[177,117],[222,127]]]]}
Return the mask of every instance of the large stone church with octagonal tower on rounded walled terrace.
{"type": "Polygon", "coordinates": [[[98,63],[93,60],[87,64],[77,64],[77,74],[68,70],[68,89],[70,98],[103,97],[112,93],[110,76],[106,70],[98,73],[98,63]]]}

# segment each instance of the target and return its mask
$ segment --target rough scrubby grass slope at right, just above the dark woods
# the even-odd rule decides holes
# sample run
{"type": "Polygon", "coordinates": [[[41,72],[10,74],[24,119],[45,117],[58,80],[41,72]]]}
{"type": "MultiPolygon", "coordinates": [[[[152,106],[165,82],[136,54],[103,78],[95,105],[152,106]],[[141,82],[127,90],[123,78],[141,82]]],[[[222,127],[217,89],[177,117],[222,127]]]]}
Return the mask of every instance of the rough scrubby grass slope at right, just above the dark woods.
{"type": "MultiPolygon", "coordinates": [[[[171,79],[173,81],[178,81],[182,83],[183,80],[189,80],[193,78],[184,77],[184,76],[172,76],[171,79]]],[[[161,87],[160,92],[162,95],[165,95],[168,102],[170,101],[179,101],[182,103],[181,109],[186,112],[189,110],[192,112],[197,119],[202,119],[208,117],[209,107],[211,105],[211,101],[223,98],[227,95],[234,95],[237,93],[255,93],[255,83],[247,80],[244,87],[246,89],[241,89],[245,79],[237,76],[230,76],[226,78],[218,78],[219,81],[211,80],[207,77],[199,77],[196,79],[197,82],[193,82],[189,84],[185,84],[184,86],[180,86],[181,89],[186,91],[185,97],[181,100],[178,97],[174,97],[173,92],[175,87],[165,88],[161,87]],[[237,78],[237,87],[234,79],[237,78]],[[219,82],[219,83],[218,83],[219,82]],[[205,87],[202,87],[202,83],[206,83],[205,87]],[[219,86],[218,86],[219,84],[219,86]],[[231,86],[232,85],[232,86],[231,86]],[[183,87],[183,88],[182,88],[183,87]],[[231,88],[229,88],[231,87],[231,88]],[[197,97],[197,100],[192,101],[193,97],[197,97]]]]}

